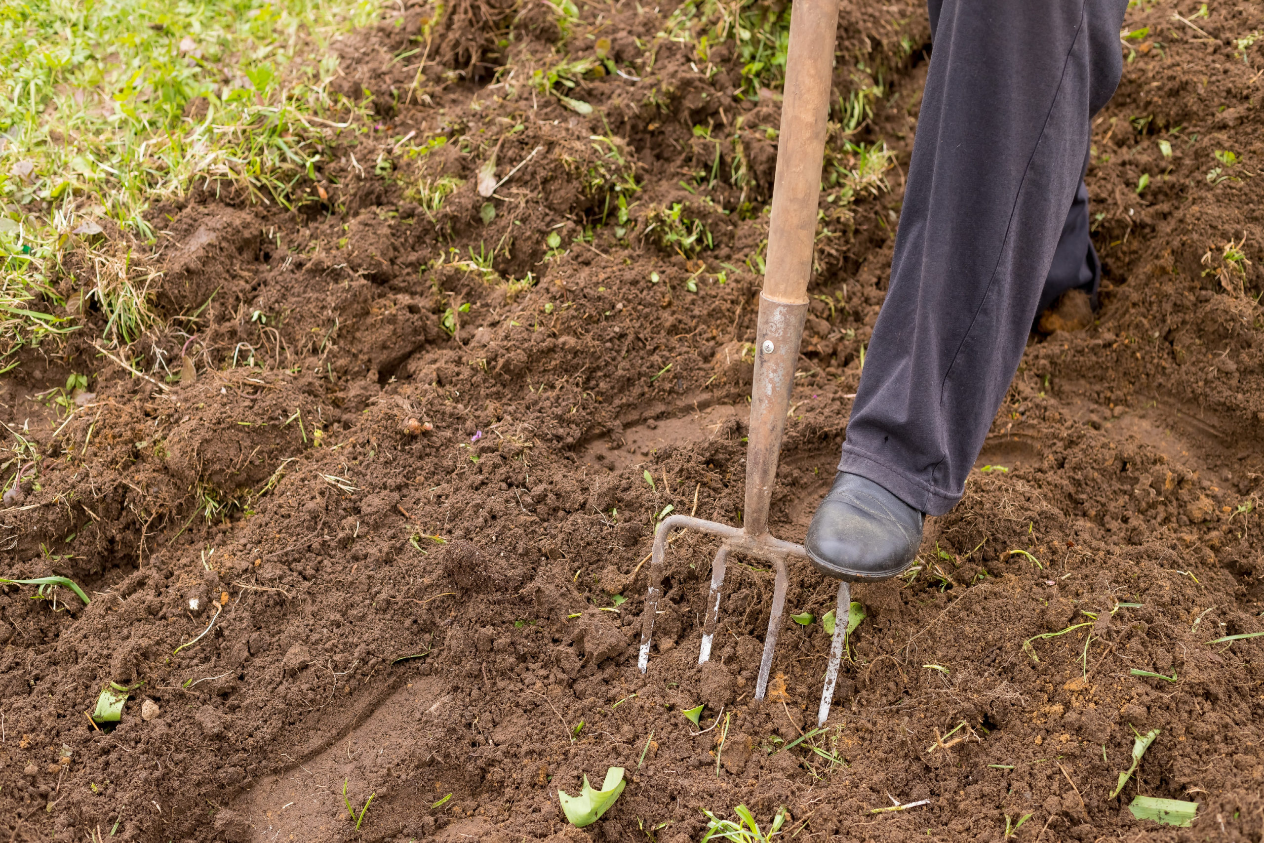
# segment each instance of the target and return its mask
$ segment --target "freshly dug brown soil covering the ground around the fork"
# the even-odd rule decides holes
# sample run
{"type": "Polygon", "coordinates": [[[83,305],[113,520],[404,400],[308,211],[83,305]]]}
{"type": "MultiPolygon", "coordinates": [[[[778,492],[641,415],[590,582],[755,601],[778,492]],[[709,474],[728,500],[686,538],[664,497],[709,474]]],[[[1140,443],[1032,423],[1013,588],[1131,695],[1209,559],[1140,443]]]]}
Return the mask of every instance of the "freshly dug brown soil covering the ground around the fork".
{"type": "MultiPolygon", "coordinates": [[[[627,4],[561,33],[545,4],[458,3],[418,76],[397,57],[435,9],[392,5],[339,48],[370,119],[330,136],[308,201],[212,183],[155,207],[171,327],[102,356],[90,312],[0,380],[3,571],[91,598],[0,589],[0,839],[684,843],[744,804],[804,839],[1028,818],[1018,839],[1258,843],[1264,638],[1207,642],[1264,629],[1264,58],[1240,40],[1264,10],[1211,5],[1129,11],[1088,173],[1101,310],[1042,321],[966,498],[914,576],[854,590],[828,731],[789,749],[828,637],[787,622],[752,701],[761,565],[731,565],[699,669],[715,545],[679,536],[647,675],[635,656],[659,514],[741,518],[776,95],[733,96],[732,39],[699,54],[681,10],[627,4]],[[564,34],[626,73],[569,91],[588,115],[530,83],[564,34]],[[91,392],[66,418],[47,391],[71,373],[91,392]],[[137,688],[99,729],[111,680],[137,688]],[[570,828],[556,791],[611,766],[627,789],[570,828]],[[1136,794],[1197,819],[1136,820],[1136,794]]],[[[882,94],[830,161],[897,157],[851,201],[827,178],[789,540],[882,302],[928,51],[919,4],[843,3],[839,97],[882,94]]],[[[833,585],[794,565],[787,607],[820,617],[833,585]]]]}

